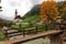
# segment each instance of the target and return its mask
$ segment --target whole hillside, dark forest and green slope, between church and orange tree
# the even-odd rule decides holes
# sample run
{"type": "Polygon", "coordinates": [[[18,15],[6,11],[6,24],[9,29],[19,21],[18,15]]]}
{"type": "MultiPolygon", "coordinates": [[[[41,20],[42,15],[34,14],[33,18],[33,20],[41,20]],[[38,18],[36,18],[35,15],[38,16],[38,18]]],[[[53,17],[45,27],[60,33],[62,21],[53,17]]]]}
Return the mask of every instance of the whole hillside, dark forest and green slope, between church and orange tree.
{"type": "Polygon", "coordinates": [[[23,22],[40,21],[40,4],[34,6],[24,16],[23,22]]]}

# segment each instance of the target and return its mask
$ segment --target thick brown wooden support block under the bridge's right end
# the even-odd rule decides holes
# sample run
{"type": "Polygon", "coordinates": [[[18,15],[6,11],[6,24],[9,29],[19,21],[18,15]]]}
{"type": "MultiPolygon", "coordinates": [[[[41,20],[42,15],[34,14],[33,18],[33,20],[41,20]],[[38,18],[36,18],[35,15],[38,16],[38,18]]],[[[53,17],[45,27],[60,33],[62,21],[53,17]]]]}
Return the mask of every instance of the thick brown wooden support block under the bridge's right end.
{"type": "Polygon", "coordinates": [[[50,36],[51,44],[63,44],[63,35],[61,34],[54,34],[50,36]]]}

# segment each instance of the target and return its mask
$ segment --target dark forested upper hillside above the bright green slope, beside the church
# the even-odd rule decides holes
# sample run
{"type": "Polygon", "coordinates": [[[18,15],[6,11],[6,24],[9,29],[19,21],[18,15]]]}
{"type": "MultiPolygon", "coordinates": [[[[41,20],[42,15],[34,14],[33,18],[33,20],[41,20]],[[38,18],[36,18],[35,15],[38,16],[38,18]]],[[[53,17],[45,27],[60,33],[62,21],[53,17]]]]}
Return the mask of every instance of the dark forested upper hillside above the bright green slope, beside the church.
{"type": "Polygon", "coordinates": [[[40,14],[40,4],[34,6],[23,18],[30,18],[35,14],[40,14]]]}

